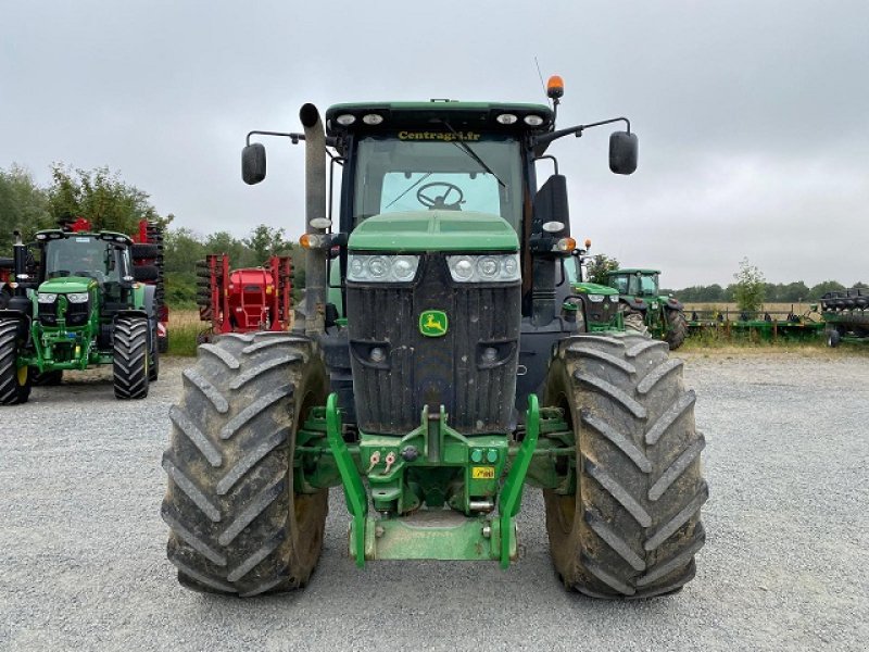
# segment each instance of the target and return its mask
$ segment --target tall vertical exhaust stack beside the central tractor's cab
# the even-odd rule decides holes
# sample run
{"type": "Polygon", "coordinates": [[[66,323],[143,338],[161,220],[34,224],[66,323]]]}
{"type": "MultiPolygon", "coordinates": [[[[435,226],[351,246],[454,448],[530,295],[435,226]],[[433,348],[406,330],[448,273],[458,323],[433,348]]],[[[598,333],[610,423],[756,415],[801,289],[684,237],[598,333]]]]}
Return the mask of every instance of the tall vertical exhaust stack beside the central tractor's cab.
{"type": "Polygon", "coordinates": [[[305,335],[326,331],[326,134],[314,104],[302,105],[299,118],[305,131],[305,223],[311,246],[305,264],[305,335]]]}

